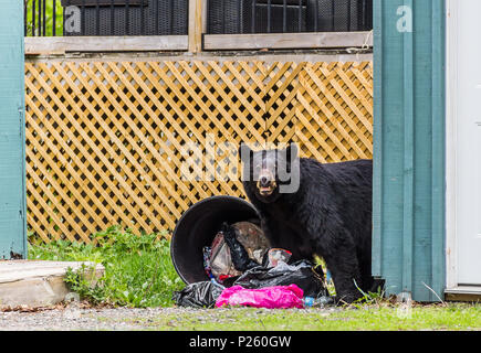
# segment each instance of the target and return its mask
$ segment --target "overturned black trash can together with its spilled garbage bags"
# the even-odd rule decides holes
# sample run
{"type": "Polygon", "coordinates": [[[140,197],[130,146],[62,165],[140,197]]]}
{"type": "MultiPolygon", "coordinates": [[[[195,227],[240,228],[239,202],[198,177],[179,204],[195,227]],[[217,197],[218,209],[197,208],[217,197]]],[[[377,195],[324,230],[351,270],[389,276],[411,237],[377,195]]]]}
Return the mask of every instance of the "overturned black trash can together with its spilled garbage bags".
{"type": "Polygon", "coordinates": [[[187,285],[172,293],[179,307],[290,308],[333,302],[321,266],[309,260],[291,264],[287,249],[271,248],[254,206],[239,197],[213,196],[187,210],[174,229],[170,255],[187,285]],[[286,307],[280,291],[293,286],[300,296],[286,307]],[[236,301],[241,297],[250,299],[236,301]]]}

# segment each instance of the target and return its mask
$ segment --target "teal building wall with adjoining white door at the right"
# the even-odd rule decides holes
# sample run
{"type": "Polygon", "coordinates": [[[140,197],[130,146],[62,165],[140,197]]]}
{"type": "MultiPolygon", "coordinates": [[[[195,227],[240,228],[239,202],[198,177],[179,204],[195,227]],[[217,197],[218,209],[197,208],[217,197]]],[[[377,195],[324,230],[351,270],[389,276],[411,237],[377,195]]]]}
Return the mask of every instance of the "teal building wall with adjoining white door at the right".
{"type": "Polygon", "coordinates": [[[480,10],[375,2],[373,260],[389,293],[481,293],[480,10]]]}

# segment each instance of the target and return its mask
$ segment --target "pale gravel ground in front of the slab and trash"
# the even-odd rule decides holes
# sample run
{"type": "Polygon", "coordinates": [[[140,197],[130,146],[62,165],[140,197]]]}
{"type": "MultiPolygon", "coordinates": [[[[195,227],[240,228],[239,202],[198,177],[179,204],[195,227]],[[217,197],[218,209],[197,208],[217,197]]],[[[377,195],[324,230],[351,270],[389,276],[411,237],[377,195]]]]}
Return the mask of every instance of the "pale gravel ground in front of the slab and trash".
{"type": "MultiPolygon", "coordinates": [[[[338,309],[287,309],[276,312],[328,315],[338,309]],[[301,311],[300,311],[301,310],[301,311]]],[[[202,330],[217,324],[217,330],[230,328],[239,315],[262,322],[274,312],[269,309],[191,309],[191,308],[90,308],[81,303],[66,307],[0,311],[0,331],[146,331],[202,330]]],[[[263,324],[259,329],[262,330],[263,324]]]]}

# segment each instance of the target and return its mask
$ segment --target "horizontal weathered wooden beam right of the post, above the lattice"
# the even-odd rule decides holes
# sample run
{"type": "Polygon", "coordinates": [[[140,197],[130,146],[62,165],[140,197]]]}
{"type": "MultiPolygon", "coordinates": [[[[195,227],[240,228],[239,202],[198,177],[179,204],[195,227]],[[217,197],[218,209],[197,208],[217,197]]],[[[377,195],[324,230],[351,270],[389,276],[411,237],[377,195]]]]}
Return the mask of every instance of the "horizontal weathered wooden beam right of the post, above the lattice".
{"type": "Polygon", "coordinates": [[[205,50],[372,47],[372,32],[209,34],[205,50]]]}

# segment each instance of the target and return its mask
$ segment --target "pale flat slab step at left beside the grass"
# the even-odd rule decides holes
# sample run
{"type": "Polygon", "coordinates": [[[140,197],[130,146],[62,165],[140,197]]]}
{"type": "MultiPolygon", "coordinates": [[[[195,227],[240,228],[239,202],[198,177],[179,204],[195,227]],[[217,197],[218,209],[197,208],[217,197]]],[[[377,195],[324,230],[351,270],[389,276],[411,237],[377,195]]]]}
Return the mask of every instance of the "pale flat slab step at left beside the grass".
{"type": "Polygon", "coordinates": [[[65,300],[71,292],[63,281],[69,267],[95,269],[88,274],[98,278],[104,267],[86,261],[0,260],[0,308],[19,306],[45,307],[65,300]]]}

